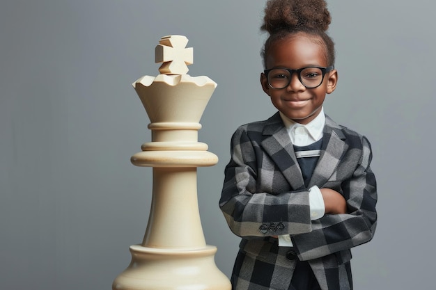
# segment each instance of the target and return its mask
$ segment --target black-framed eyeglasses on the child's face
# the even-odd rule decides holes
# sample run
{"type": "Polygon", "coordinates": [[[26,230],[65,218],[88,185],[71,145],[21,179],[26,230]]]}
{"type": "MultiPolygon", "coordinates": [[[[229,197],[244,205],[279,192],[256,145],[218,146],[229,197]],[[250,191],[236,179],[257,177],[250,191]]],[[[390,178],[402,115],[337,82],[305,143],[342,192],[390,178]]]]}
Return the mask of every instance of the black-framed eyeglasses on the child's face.
{"type": "Polygon", "coordinates": [[[306,88],[317,88],[324,80],[327,72],[334,69],[333,65],[329,67],[302,67],[298,70],[291,70],[285,67],[274,67],[270,70],[264,70],[263,73],[267,76],[268,85],[271,88],[286,88],[289,86],[291,76],[294,72],[297,73],[299,81],[306,88]]]}

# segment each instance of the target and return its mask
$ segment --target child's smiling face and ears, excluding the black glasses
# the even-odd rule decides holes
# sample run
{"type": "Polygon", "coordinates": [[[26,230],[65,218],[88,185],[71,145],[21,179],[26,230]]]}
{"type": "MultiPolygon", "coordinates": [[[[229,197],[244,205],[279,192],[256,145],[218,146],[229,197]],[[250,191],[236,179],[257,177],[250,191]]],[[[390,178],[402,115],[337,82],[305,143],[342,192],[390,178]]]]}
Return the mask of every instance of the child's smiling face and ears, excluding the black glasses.
{"type": "MultiPolygon", "coordinates": [[[[304,33],[290,35],[279,40],[270,47],[266,56],[266,69],[286,67],[297,70],[302,67],[327,67],[324,47],[304,33]]],[[[268,85],[265,74],[260,75],[263,90],[271,97],[271,102],[286,117],[308,124],[316,118],[322,108],[325,95],[334,91],[338,74],[336,70],[327,72],[318,88],[306,88],[299,81],[297,74],[293,74],[286,88],[275,89],[268,85]]]]}

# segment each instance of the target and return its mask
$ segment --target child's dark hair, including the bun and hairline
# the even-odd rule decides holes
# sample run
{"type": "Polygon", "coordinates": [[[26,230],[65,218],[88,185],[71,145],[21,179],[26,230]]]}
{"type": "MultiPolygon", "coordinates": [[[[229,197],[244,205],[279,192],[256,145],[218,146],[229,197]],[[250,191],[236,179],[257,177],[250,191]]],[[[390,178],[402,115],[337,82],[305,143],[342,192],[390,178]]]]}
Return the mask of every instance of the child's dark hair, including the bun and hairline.
{"type": "Polygon", "coordinates": [[[311,35],[314,41],[325,47],[327,65],[334,65],[334,42],[327,34],[332,20],[325,0],[268,0],[262,31],[270,34],[261,52],[266,68],[266,56],[277,41],[297,33],[311,35]]]}

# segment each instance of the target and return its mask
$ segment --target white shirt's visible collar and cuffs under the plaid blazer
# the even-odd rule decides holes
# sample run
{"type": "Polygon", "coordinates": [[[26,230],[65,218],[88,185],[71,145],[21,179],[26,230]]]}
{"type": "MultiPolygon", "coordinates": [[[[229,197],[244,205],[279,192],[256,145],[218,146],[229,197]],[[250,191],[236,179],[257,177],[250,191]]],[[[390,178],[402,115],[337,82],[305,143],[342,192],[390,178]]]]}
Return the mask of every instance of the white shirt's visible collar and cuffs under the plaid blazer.
{"type": "MultiPolygon", "coordinates": [[[[324,108],[309,124],[299,124],[290,120],[286,115],[280,112],[281,120],[285,124],[289,137],[293,145],[307,146],[322,138],[322,131],[325,126],[324,108]]],[[[311,207],[311,220],[318,220],[325,214],[325,204],[318,186],[309,188],[309,205],[311,207]]],[[[292,247],[293,243],[288,234],[279,236],[279,245],[292,247]]]]}

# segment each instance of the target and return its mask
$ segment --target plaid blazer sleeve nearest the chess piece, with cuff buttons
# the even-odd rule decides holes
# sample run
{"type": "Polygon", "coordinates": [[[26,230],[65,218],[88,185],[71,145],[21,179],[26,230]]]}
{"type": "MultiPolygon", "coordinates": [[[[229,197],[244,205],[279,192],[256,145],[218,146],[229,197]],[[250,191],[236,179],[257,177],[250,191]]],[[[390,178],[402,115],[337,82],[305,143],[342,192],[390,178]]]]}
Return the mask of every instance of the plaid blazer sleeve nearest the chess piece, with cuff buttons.
{"type": "Polygon", "coordinates": [[[309,192],[292,192],[284,179],[274,180],[280,177],[267,158],[246,127],[235,131],[219,201],[228,226],[245,239],[311,232],[309,192]],[[269,185],[274,192],[265,189],[269,185]]]}

